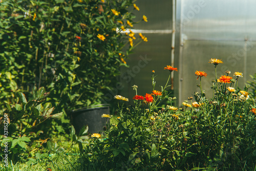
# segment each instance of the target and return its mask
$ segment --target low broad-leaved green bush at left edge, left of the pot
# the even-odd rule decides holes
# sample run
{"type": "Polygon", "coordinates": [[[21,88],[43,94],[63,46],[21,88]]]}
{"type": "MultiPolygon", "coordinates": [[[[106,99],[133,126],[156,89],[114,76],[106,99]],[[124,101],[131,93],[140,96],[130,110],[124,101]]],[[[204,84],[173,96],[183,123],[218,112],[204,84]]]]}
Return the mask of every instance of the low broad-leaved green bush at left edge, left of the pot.
{"type": "Polygon", "coordinates": [[[49,95],[44,87],[38,90],[34,87],[33,92],[27,97],[24,93],[17,91],[16,83],[11,80],[12,88],[10,101],[6,101],[6,110],[0,114],[1,156],[8,154],[13,163],[26,161],[29,157],[35,157],[42,149],[41,140],[44,136],[39,124],[47,119],[60,118],[61,113],[52,114],[54,107],[50,102],[45,102],[49,95]]]}

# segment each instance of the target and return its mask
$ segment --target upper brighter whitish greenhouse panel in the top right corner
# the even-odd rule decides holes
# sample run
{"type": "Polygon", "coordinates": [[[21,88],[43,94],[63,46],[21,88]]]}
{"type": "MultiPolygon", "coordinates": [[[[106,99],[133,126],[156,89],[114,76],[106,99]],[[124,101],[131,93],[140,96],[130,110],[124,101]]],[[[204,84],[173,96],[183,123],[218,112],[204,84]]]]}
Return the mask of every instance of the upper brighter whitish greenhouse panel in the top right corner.
{"type": "Polygon", "coordinates": [[[181,0],[181,33],[184,39],[255,40],[255,8],[254,0],[181,0]]]}

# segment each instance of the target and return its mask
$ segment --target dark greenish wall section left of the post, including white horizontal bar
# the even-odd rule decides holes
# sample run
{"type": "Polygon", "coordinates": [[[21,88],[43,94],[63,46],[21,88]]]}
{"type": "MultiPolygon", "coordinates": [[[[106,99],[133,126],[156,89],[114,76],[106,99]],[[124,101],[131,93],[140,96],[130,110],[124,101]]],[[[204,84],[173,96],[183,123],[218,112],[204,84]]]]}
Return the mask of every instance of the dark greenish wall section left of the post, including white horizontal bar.
{"type": "Polygon", "coordinates": [[[172,1],[138,0],[135,3],[140,8],[140,11],[134,11],[136,18],[141,20],[145,15],[148,20],[134,25],[135,36],[139,39],[138,33],[142,33],[148,41],[138,45],[129,59],[126,59],[130,68],[121,68],[122,87],[119,93],[129,99],[135,95],[132,89],[134,84],[138,86],[139,95],[152,93],[152,70],[158,75],[155,89],[161,90],[159,86],[164,86],[169,72],[163,69],[170,65],[172,40],[172,1]]]}

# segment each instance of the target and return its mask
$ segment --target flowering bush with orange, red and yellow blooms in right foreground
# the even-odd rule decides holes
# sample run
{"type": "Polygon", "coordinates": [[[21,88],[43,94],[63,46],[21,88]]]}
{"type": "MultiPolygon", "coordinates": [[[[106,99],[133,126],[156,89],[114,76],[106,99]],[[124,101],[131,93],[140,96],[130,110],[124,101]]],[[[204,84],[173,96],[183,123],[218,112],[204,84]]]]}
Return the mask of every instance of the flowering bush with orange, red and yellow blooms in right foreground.
{"type": "MultiPolygon", "coordinates": [[[[219,59],[210,59],[215,69],[219,59]]],[[[177,68],[167,66],[170,73],[177,68]]],[[[216,72],[217,73],[217,72],[216,72]]],[[[196,71],[200,90],[185,100],[183,108],[175,106],[166,87],[129,100],[115,96],[118,102],[116,123],[106,126],[105,138],[93,134],[94,145],[84,158],[91,170],[252,170],[256,166],[255,100],[248,86],[237,88],[236,79],[227,75],[212,81],[214,97],[205,98],[201,79],[207,73],[196,71]],[[159,104],[168,98],[165,108],[159,104]],[[192,100],[195,99],[193,102],[192,100]]],[[[103,117],[111,117],[104,115],[103,117]]],[[[114,119],[114,118],[112,118],[114,119]]]]}

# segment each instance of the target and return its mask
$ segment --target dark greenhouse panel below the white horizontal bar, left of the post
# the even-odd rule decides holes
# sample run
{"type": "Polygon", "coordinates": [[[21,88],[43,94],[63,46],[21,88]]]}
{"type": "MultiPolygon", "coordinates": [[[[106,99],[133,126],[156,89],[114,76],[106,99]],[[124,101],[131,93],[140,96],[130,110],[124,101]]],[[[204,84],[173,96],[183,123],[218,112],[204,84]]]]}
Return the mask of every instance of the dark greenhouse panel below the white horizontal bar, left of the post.
{"type": "MultiPolygon", "coordinates": [[[[155,90],[161,90],[159,86],[165,86],[169,76],[169,71],[164,70],[170,63],[171,34],[144,34],[148,41],[142,42],[134,53],[126,59],[130,68],[121,68],[120,95],[125,96],[132,101],[136,95],[132,86],[138,86],[138,95],[152,93],[152,70],[155,71],[156,87],[155,90]]],[[[177,73],[176,73],[177,74],[177,73]]],[[[178,75],[177,75],[178,76],[178,75]]],[[[170,82],[169,82],[170,83],[170,82]]],[[[170,88],[169,88],[170,89],[170,88]]]]}

